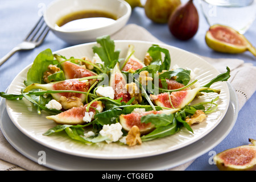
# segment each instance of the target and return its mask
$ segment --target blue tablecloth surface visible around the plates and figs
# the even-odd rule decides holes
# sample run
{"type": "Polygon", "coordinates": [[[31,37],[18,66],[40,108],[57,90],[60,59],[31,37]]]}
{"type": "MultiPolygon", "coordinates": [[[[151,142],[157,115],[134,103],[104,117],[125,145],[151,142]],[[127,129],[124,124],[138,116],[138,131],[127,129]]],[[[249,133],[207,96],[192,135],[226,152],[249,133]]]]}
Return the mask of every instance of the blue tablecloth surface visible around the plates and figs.
{"type": "MultiPolygon", "coordinates": [[[[29,1],[29,0],[1,0],[0,2],[0,57],[3,57],[18,43],[22,42],[23,38],[28,34],[31,28],[39,19],[39,14],[47,7],[50,0],[45,1],[29,1]]],[[[183,0],[181,2],[186,2],[183,0]]],[[[242,59],[245,63],[256,65],[256,60],[250,52],[241,53],[239,55],[230,55],[212,51],[205,43],[205,33],[209,26],[201,13],[199,2],[194,1],[197,11],[199,12],[199,30],[197,34],[186,42],[175,39],[168,30],[167,24],[156,24],[148,19],[144,13],[144,9],[137,7],[133,10],[128,23],[138,24],[154,35],[162,42],[185,49],[189,52],[197,53],[202,56],[212,58],[234,58],[242,59]]],[[[244,34],[250,42],[256,46],[256,21],[244,34]]],[[[44,43],[30,51],[20,51],[15,53],[5,64],[0,67],[0,92],[4,92],[10,85],[14,77],[22,71],[27,65],[31,64],[36,55],[44,49],[50,48],[52,51],[57,51],[61,48],[71,45],[57,38],[52,32],[49,32],[44,43]]],[[[255,104],[256,93],[246,102],[238,114],[236,124],[228,136],[222,140],[220,144],[212,148],[211,151],[216,153],[224,151],[228,148],[248,144],[248,138],[256,139],[255,125],[255,104]]],[[[210,151],[209,151],[210,152],[210,151]]],[[[187,171],[216,171],[218,168],[214,164],[209,163],[210,153],[200,156],[189,166],[187,171]]],[[[188,154],[189,155],[189,154],[188,154]]]]}

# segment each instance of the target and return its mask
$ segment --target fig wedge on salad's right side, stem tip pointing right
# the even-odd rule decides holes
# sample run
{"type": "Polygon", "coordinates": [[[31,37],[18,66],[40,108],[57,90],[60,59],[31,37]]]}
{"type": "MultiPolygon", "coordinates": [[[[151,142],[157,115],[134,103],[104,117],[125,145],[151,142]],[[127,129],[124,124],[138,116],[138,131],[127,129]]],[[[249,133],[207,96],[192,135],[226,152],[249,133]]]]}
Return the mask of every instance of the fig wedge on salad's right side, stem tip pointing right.
{"type": "Polygon", "coordinates": [[[178,92],[172,92],[169,97],[169,93],[161,93],[157,96],[150,95],[152,102],[160,107],[169,107],[169,108],[182,108],[185,105],[188,105],[199,93],[203,90],[213,90],[216,93],[220,93],[220,90],[210,89],[205,87],[195,88],[191,90],[181,90],[178,92]],[[171,98],[171,102],[170,102],[171,98]]]}

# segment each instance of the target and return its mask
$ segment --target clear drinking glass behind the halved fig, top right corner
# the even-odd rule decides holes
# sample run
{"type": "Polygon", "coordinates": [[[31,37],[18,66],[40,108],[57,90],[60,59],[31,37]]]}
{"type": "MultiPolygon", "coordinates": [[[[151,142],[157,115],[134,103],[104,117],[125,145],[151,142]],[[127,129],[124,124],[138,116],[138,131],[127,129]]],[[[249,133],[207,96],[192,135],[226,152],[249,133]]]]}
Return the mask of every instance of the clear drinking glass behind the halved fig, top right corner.
{"type": "Polygon", "coordinates": [[[222,24],[244,34],[256,17],[256,0],[200,0],[209,26],[222,24]]]}

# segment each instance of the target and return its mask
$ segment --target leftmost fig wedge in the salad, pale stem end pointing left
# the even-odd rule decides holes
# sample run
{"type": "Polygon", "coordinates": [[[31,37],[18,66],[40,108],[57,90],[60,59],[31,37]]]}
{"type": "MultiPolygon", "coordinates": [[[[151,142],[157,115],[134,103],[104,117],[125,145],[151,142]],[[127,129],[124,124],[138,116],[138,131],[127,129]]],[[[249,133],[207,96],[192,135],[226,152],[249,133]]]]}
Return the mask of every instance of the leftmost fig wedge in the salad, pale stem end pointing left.
{"type": "MultiPolygon", "coordinates": [[[[64,80],[64,81],[54,81],[48,84],[31,84],[24,89],[24,92],[28,92],[32,89],[43,89],[43,90],[76,90],[81,92],[87,92],[90,88],[88,80],[79,81],[78,78],[64,80]]],[[[67,98],[75,96],[81,98],[82,102],[85,101],[86,95],[81,93],[63,92],[63,93],[51,93],[55,100],[59,100],[61,96],[67,98]]]]}

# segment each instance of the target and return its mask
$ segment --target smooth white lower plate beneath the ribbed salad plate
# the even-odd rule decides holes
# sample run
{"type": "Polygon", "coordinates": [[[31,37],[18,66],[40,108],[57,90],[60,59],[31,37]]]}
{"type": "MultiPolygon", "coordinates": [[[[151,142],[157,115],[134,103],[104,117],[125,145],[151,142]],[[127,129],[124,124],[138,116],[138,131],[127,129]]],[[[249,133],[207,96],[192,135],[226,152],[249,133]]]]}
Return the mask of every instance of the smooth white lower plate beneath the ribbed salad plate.
{"type": "Polygon", "coordinates": [[[217,144],[219,144],[230,133],[237,120],[238,101],[232,86],[229,85],[229,89],[229,109],[220,124],[216,126],[208,135],[186,147],[172,152],[167,152],[166,154],[150,156],[147,158],[129,160],[90,159],[64,154],[63,152],[58,152],[56,150],[52,150],[51,148],[47,148],[28,138],[18,130],[13,122],[11,122],[11,119],[6,111],[5,99],[2,99],[0,102],[0,127],[8,142],[28,159],[31,159],[37,163],[40,156],[38,155],[38,152],[45,151],[47,155],[45,166],[55,170],[165,170],[190,162],[191,160],[205,154],[206,152],[212,150],[212,148],[216,147],[217,144]]]}

